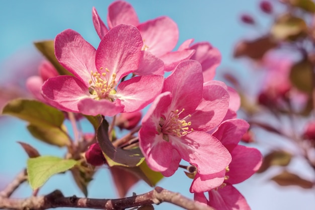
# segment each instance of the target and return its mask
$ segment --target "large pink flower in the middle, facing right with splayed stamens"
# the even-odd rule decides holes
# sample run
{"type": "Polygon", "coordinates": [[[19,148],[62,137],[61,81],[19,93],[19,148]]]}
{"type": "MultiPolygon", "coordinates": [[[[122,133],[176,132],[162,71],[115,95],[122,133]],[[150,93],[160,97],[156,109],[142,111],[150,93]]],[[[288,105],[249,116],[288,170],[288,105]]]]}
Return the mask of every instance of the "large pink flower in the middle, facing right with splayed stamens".
{"type": "Polygon", "coordinates": [[[142,119],[139,145],[148,166],[165,176],[174,174],[181,159],[201,174],[225,169],[229,153],[204,131],[216,127],[227,109],[224,87],[213,84],[203,88],[200,63],[181,62],[142,119]]]}

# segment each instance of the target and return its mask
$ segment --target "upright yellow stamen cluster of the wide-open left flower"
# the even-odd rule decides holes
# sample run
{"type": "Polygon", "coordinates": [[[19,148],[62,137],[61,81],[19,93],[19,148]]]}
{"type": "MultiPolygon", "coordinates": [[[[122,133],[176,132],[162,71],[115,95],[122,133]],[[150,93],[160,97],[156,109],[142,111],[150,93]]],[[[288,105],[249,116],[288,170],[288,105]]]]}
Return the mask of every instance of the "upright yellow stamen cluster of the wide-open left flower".
{"type": "MultiPolygon", "coordinates": [[[[101,67],[100,69],[103,69],[101,67]]],[[[108,68],[105,68],[106,72],[109,72],[108,68]]],[[[114,101],[114,95],[116,94],[116,74],[112,74],[112,80],[111,82],[107,81],[106,79],[106,72],[100,74],[100,73],[93,73],[91,71],[91,80],[89,80],[90,88],[89,92],[91,95],[93,95],[92,98],[96,100],[100,99],[109,99],[111,101],[114,101]]]]}

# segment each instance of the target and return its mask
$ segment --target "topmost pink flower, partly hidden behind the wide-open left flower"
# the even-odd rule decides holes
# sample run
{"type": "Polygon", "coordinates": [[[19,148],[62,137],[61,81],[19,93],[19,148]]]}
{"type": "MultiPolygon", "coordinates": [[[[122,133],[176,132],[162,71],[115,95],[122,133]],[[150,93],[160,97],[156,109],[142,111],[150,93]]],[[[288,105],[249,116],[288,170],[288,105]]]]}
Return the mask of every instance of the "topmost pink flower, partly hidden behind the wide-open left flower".
{"type": "MultiPolygon", "coordinates": [[[[109,31],[99,17],[95,8],[92,11],[93,24],[99,37],[109,31]]],[[[172,71],[183,60],[189,59],[194,50],[171,52],[179,39],[177,24],[169,17],[159,17],[140,23],[132,6],[124,1],[116,1],[108,8],[107,22],[109,29],[119,25],[128,24],[136,26],[142,36],[142,50],[145,54],[154,55],[163,60],[164,71],[172,71]]]]}

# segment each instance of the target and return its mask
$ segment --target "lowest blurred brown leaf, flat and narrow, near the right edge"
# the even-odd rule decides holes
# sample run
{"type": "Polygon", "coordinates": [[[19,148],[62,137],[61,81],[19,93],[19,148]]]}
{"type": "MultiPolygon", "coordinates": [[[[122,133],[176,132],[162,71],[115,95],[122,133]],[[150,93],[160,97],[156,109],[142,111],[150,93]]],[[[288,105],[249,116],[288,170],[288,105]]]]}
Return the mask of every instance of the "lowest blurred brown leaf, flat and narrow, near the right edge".
{"type": "Polygon", "coordinates": [[[275,181],[280,186],[297,185],[304,189],[310,189],[313,187],[313,183],[311,181],[305,180],[298,175],[287,171],[283,171],[282,173],[273,177],[271,180],[275,181]]]}

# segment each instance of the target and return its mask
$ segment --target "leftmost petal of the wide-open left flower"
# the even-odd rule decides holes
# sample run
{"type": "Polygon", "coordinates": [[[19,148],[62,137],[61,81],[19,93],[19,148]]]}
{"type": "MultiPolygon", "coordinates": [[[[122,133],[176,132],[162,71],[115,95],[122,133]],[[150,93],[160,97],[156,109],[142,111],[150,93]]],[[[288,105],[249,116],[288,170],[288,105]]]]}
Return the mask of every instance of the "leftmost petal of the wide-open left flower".
{"type": "Polygon", "coordinates": [[[51,105],[63,111],[80,112],[78,102],[90,97],[89,89],[72,76],[48,79],[42,86],[42,95],[51,105]]]}

